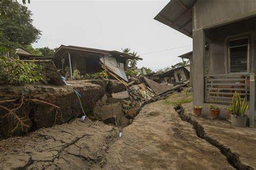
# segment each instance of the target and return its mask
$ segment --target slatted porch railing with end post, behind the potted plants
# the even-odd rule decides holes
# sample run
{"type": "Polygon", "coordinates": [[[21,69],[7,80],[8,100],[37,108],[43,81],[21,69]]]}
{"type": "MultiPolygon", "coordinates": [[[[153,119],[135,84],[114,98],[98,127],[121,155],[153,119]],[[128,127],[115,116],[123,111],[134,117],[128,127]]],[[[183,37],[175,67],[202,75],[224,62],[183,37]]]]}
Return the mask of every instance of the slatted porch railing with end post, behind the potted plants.
{"type": "Polygon", "coordinates": [[[254,73],[212,74],[204,76],[205,103],[230,105],[233,93],[250,104],[250,127],[254,126],[255,83],[254,73]]]}

